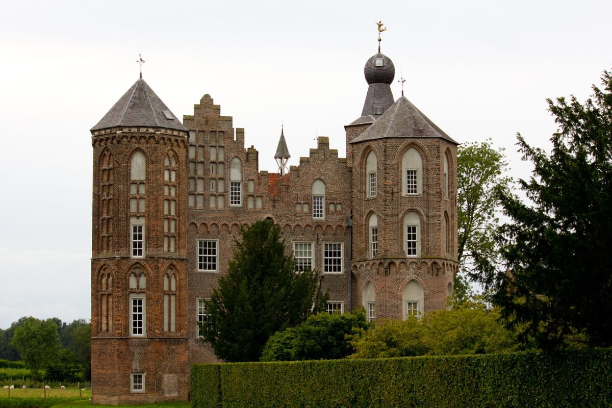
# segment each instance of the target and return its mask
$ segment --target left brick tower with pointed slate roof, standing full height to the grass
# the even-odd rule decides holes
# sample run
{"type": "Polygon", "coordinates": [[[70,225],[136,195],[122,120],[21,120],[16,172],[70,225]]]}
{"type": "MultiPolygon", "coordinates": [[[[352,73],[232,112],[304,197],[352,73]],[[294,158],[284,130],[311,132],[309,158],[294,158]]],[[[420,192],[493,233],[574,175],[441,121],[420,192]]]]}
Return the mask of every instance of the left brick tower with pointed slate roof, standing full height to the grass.
{"type": "Polygon", "coordinates": [[[187,128],[141,76],[91,134],[92,402],[187,399],[187,128]]]}

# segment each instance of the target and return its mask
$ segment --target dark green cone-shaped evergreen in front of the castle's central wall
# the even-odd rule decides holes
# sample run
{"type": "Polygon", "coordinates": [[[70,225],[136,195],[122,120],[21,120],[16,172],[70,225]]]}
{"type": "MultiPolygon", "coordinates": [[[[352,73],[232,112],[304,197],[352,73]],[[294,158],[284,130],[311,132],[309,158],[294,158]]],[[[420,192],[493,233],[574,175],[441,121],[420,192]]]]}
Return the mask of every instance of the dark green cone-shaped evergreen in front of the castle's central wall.
{"type": "Polygon", "coordinates": [[[242,229],[228,273],[204,302],[209,325],[204,339],[227,362],[258,361],[267,339],[305,321],[311,310],[324,310],[319,275],[296,273],[286,254],[280,228],[269,220],[242,229]]]}

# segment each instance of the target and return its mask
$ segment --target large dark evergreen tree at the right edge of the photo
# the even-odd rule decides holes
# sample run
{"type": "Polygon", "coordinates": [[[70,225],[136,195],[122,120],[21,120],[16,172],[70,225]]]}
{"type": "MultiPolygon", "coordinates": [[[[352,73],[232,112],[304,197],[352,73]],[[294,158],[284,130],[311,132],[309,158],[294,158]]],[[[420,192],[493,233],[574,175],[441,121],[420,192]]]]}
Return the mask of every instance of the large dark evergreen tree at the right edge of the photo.
{"type": "Polygon", "coordinates": [[[604,90],[593,86],[584,104],[573,96],[548,100],[558,124],[550,155],[518,135],[523,160],[534,165],[531,178],[520,180],[531,202],[497,193],[511,220],[496,237],[507,269],[489,265],[480,281],[493,288],[508,327],[544,349],[574,335],[612,346],[610,72],[602,82],[604,90]]]}

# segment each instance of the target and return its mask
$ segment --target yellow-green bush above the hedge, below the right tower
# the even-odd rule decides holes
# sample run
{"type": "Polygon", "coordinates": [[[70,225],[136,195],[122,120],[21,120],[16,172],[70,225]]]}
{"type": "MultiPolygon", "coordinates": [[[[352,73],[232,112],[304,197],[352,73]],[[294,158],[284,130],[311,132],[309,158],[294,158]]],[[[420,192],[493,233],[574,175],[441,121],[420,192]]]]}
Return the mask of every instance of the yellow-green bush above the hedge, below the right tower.
{"type": "Polygon", "coordinates": [[[352,358],[405,357],[509,352],[517,349],[513,333],[497,322],[499,310],[465,301],[452,310],[425,313],[421,319],[383,320],[353,341],[352,358]]]}

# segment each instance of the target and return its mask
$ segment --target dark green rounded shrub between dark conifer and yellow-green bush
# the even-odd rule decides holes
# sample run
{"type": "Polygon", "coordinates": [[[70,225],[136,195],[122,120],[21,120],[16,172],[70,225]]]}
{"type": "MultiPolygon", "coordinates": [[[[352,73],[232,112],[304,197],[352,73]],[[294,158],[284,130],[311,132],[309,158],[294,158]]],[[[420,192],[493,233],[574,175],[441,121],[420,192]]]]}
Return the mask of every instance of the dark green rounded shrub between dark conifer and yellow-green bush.
{"type": "Polygon", "coordinates": [[[261,361],[330,360],[353,352],[346,336],[369,327],[364,310],[354,313],[319,313],[297,327],[268,339],[261,361]]]}

